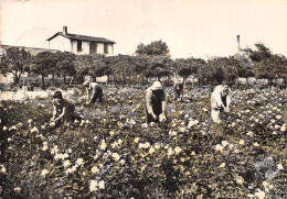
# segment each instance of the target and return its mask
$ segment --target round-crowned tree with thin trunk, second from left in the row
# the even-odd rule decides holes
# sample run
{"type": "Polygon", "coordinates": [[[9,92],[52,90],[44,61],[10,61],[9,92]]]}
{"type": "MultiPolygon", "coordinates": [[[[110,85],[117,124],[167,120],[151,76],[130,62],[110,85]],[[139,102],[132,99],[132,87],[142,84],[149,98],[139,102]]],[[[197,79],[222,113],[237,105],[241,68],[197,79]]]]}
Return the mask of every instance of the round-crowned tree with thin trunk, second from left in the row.
{"type": "Polygon", "coordinates": [[[31,71],[42,76],[42,89],[45,89],[44,78],[55,71],[56,63],[57,57],[51,52],[41,52],[34,57],[31,71]]]}

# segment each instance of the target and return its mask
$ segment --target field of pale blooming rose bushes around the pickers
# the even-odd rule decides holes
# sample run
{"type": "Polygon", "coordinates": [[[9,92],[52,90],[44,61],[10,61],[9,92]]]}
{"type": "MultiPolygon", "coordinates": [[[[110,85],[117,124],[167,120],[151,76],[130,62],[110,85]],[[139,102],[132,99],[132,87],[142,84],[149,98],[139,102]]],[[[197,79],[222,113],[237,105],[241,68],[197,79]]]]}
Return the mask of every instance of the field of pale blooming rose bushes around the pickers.
{"type": "Polygon", "coordinates": [[[51,97],[2,100],[0,198],[287,198],[286,90],[233,89],[216,124],[209,88],[167,87],[148,126],[145,89],[104,87],[102,104],[65,91],[82,120],[61,126],[51,97]]]}

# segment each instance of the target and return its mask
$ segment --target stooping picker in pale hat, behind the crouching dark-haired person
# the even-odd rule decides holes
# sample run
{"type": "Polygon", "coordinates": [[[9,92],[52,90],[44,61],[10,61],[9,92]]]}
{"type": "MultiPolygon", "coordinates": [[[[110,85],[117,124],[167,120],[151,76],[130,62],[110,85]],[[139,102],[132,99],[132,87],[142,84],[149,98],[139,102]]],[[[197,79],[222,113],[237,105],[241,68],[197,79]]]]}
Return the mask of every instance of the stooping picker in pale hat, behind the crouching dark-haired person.
{"type": "Polygon", "coordinates": [[[87,103],[95,103],[97,100],[103,101],[103,87],[97,82],[85,81],[83,84],[87,89],[87,103]]]}

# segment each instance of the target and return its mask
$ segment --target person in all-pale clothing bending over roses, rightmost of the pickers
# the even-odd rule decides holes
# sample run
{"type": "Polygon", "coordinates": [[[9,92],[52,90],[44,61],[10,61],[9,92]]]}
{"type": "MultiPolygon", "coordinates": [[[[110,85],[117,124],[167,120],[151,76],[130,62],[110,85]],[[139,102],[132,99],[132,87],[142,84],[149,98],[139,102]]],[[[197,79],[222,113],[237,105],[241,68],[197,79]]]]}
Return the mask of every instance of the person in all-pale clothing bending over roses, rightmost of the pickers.
{"type": "Polygon", "coordinates": [[[214,88],[211,95],[211,119],[215,123],[221,123],[220,113],[230,112],[232,91],[226,81],[214,88]]]}

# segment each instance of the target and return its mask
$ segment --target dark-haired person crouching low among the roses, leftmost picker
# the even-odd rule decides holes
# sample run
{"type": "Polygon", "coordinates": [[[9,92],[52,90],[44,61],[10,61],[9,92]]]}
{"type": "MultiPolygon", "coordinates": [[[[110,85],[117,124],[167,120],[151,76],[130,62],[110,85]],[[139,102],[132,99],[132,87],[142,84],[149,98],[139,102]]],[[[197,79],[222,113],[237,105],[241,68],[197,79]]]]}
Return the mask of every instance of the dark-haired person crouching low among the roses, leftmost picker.
{"type": "Polygon", "coordinates": [[[71,122],[75,114],[75,104],[68,99],[64,99],[61,91],[55,91],[53,98],[54,111],[52,121],[56,123],[62,121],[65,124],[71,122]]]}

